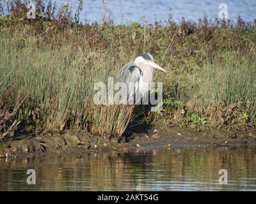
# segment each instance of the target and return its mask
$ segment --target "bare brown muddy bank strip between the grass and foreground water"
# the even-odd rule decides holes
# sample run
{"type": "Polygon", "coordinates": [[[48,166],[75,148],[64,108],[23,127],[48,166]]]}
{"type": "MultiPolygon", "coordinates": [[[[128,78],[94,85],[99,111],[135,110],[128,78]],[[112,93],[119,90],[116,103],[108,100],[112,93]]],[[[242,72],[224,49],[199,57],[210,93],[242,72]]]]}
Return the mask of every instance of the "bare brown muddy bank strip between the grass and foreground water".
{"type": "Polygon", "coordinates": [[[142,149],[177,147],[239,147],[256,145],[255,129],[240,131],[179,127],[152,128],[147,133],[132,133],[120,140],[103,140],[84,131],[43,133],[42,135],[0,144],[0,157],[16,157],[46,152],[61,153],[69,150],[83,152],[138,152],[142,149]]]}

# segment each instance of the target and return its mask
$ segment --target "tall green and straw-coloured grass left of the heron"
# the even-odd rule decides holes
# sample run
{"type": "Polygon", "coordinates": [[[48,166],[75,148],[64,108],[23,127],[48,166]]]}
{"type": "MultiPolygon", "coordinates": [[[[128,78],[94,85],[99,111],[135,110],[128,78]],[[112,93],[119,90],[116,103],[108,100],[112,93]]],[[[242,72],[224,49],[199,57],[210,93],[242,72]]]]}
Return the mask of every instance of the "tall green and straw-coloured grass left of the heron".
{"type": "Polygon", "coordinates": [[[95,82],[107,82],[122,64],[114,64],[108,55],[97,55],[90,48],[86,54],[76,52],[68,41],[61,47],[38,49],[36,38],[26,36],[25,31],[15,33],[12,40],[4,32],[0,40],[1,95],[11,91],[10,101],[15,101],[15,93],[22,87],[24,95],[29,93],[23,107],[38,108],[37,125],[47,129],[79,128],[105,138],[122,135],[133,107],[94,105],[92,100],[95,82]],[[17,46],[19,41],[22,48],[17,46]]]}

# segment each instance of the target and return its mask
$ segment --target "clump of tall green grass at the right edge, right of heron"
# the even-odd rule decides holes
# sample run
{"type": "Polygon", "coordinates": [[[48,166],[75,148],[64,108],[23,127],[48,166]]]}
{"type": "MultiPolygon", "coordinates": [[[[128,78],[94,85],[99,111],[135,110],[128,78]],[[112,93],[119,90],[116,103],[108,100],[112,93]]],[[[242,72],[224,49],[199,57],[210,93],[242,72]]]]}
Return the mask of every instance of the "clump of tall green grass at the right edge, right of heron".
{"type": "Polygon", "coordinates": [[[250,55],[218,54],[196,77],[189,112],[206,116],[214,125],[255,123],[255,68],[250,55]]]}

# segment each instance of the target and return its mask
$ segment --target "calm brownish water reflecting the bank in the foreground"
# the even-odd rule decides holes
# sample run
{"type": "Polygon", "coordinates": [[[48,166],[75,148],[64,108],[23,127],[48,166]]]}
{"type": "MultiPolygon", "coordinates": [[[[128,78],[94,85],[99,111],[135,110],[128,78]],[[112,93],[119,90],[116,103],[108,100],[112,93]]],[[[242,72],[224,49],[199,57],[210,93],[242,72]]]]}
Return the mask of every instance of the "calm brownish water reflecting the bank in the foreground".
{"type": "Polygon", "coordinates": [[[256,148],[153,149],[136,154],[68,154],[0,161],[0,190],[256,190],[256,148]],[[26,171],[36,171],[36,185],[26,171]],[[228,185],[218,171],[227,169],[228,185]]]}

